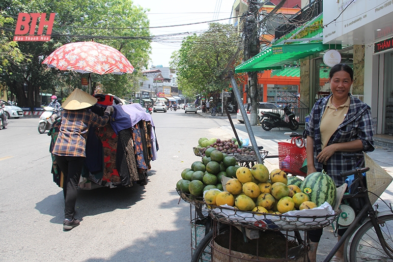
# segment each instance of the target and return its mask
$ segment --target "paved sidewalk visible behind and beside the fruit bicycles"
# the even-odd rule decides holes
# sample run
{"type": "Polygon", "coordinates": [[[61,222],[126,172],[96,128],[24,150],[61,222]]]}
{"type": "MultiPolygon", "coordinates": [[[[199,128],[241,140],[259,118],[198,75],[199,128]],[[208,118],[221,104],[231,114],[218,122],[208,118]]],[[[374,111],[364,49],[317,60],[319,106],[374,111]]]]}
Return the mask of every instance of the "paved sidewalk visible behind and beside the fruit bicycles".
{"type": "MultiPolygon", "coordinates": [[[[214,117],[217,118],[217,122],[221,124],[221,129],[225,131],[227,134],[234,137],[234,133],[232,127],[229,124],[228,118],[224,116],[206,116],[205,114],[200,114],[205,117],[214,117]]],[[[239,137],[249,138],[247,133],[246,126],[244,124],[239,124],[236,120],[236,115],[231,116],[231,119],[235,125],[236,132],[239,137]]],[[[253,134],[258,146],[263,146],[264,150],[269,151],[269,154],[277,155],[278,154],[278,142],[286,142],[288,136],[284,135],[284,132],[291,132],[288,128],[274,128],[270,131],[265,131],[261,126],[252,126],[253,134]]],[[[298,133],[303,132],[303,129],[298,129],[298,133]]],[[[375,150],[368,155],[380,165],[383,169],[385,169],[390,175],[393,176],[393,150],[390,148],[384,148],[376,146],[375,150]]],[[[279,160],[275,158],[267,158],[264,161],[264,165],[268,168],[268,170],[272,170],[279,167],[279,160]]],[[[393,203],[393,183],[391,183],[385,192],[381,195],[381,198],[384,199],[387,203],[393,203]]],[[[380,211],[387,210],[387,206],[381,201],[378,200],[376,204],[379,204],[380,211]]],[[[329,254],[329,252],[333,249],[335,244],[337,243],[337,238],[334,236],[333,228],[331,226],[324,228],[324,233],[322,235],[321,241],[318,246],[317,253],[317,262],[322,262],[325,257],[329,254]]]]}

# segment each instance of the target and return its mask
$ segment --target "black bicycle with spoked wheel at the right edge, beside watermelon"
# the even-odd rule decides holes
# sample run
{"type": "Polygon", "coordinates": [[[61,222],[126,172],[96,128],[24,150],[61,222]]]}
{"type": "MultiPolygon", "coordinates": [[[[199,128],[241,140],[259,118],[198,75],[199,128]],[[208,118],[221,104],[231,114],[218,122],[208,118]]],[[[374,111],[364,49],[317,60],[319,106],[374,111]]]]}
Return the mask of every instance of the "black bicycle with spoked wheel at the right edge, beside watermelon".
{"type": "MultiPolygon", "coordinates": [[[[389,211],[378,212],[373,209],[369,199],[369,194],[363,173],[369,171],[369,167],[365,166],[363,154],[346,154],[344,157],[352,157],[360,159],[360,167],[340,175],[347,177],[355,175],[349,190],[359,185],[354,193],[344,194],[341,201],[342,212],[339,218],[348,219],[351,215],[351,209],[359,209],[357,215],[353,218],[352,223],[347,227],[346,232],[341,236],[332,251],[328,254],[324,262],[330,261],[336,254],[339,247],[344,244],[344,260],[350,262],[364,261],[391,261],[393,260],[393,210],[391,204],[388,205],[389,211]],[[363,160],[361,159],[363,158],[363,160]],[[345,208],[343,206],[345,205],[345,208]],[[349,253],[349,254],[348,254],[349,253]]],[[[375,194],[374,194],[375,195],[375,194]]],[[[379,196],[376,195],[378,198],[379,196]]],[[[375,205],[378,209],[378,204],[375,205]]],[[[353,214],[353,213],[352,213],[353,214]]],[[[351,219],[352,220],[352,219],[351,219]]],[[[337,224],[339,224],[339,219],[337,224]]]]}

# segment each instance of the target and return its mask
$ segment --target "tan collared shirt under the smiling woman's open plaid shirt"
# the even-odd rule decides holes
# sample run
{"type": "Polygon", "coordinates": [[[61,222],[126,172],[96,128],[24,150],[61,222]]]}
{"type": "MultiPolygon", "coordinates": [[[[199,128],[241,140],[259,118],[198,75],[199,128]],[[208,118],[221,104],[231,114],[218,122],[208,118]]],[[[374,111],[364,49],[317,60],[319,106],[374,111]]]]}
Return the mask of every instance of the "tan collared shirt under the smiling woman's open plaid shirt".
{"type": "Polygon", "coordinates": [[[321,119],[321,142],[322,149],[327,146],[330,138],[336,132],[337,127],[344,121],[345,116],[348,113],[349,105],[351,100],[348,96],[347,101],[340,105],[339,107],[335,107],[332,104],[332,97],[329,98],[328,103],[326,104],[325,112],[323,113],[321,119]]]}

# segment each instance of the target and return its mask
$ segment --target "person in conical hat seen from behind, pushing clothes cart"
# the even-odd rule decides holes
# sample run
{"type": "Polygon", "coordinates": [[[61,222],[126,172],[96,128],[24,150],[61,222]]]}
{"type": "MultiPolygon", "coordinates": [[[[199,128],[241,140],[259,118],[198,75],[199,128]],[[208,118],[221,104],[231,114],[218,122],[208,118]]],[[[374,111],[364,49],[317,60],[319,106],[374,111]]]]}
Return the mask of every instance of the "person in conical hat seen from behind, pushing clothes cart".
{"type": "Polygon", "coordinates": [[[98,116],[88,109],[95,103],[97,98],[79,88],[76,88],[63,103],[60,131],[52,153],[64,175],[64,231],[71,230],[80,223],[74,218],[74,214],[79,178],[86,157],[87,132],[90,127],[105,126],[113,112],[113,107],[108,106],[104,116],[98,116]]]}

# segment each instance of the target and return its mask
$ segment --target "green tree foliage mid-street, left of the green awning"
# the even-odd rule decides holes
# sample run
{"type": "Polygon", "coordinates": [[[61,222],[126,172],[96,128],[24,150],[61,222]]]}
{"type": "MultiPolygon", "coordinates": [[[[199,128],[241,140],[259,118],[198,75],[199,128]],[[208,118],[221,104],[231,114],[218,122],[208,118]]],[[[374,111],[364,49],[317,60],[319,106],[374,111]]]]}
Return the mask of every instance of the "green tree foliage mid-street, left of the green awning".
{"type": "Polygon", "coordinates": [[[226,79],[233,70],[241,47],[241,39],[232,25],[209,24],[209,29],[183,40],[179,51],[171,57],[176,68],[178,86],[183,94],[217,93],[229,86],[226,79]]]}

